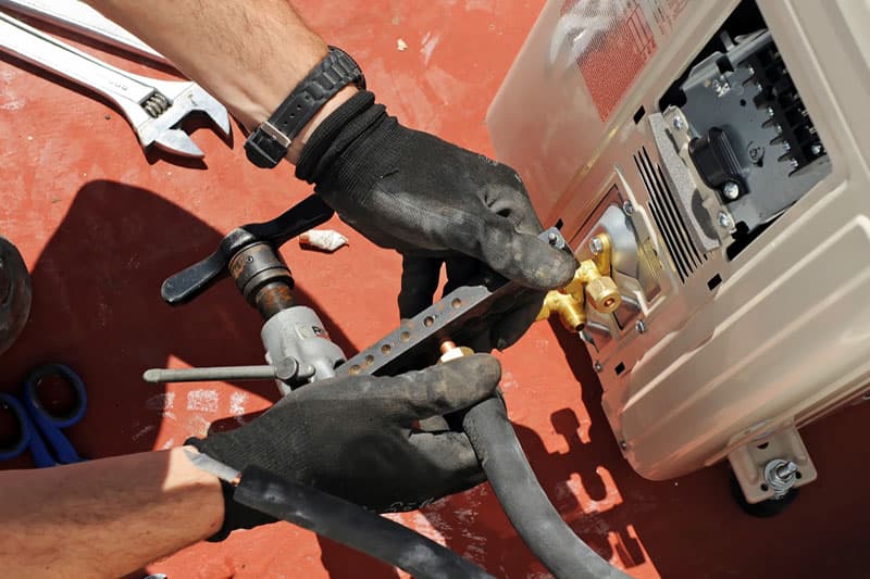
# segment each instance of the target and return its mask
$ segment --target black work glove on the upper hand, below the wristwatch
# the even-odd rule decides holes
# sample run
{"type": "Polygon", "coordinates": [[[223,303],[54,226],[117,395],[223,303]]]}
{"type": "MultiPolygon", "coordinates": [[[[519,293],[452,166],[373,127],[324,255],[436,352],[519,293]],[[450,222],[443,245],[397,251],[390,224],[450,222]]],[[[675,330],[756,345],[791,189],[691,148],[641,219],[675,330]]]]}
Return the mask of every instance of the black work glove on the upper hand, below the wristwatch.
{"type": "Polygon", "coordinates": [[[501,349],[534,320],[544,290],[574,275],[571,255],[537,239],[540,222],[512,168],[401,126],[371,92],[358,92],[318,127],[296,176],[315,184],[355,229],[402,254],[401,317],[432,304],[442,263],[445,292],[480,277],[485,264],[542,290],[490,328],[489,348],[501,349]]]}

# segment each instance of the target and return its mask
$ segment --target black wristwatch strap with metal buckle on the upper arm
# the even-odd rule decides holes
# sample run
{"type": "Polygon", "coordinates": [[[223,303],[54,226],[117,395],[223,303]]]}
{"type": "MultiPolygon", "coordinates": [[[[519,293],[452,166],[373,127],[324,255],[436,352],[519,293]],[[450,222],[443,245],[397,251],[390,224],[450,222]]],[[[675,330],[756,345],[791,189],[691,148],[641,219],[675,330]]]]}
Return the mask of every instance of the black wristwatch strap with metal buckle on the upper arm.
{"type": "Polygon", "coordinates": [[[330,53],[293,89],[269,121],[248,136],[245,141],[248,160],[258,167],[274,168],[314,113],[350,84],[365,88],[362,71],[347,52],[330,47],[330,53]]]}

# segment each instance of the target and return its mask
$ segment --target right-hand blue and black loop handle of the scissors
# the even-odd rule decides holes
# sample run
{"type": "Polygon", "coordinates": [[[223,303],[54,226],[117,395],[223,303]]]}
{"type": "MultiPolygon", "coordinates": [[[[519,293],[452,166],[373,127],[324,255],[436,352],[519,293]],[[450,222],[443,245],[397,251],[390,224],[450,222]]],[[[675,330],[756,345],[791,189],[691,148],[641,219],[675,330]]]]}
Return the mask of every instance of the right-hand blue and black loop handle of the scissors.
{"type": "MultiPolygon", "coordinates": [[[[82,378],[63,364],[45,364],[38,366],[27,375],[24,381],[22,401],[24,402],[24,407],[42,432],[42,436],[53,448],[58,461],[64,464],[82,462],[82,458],[78,456],[75,449],[73,449],[70,440],[60,430],[61,428],[66,428],[78,423],[85,414],[88,399],[82,378]],[[41,400],[39,400],[39,382],[49,376],[62,378],[72,388],[75,394],[73,406],[69,412],[60,416],[52,414],[45,407],[41,400]]],[[[34,460],[36,460],[36,455],[34,455],[34,460]]]]}

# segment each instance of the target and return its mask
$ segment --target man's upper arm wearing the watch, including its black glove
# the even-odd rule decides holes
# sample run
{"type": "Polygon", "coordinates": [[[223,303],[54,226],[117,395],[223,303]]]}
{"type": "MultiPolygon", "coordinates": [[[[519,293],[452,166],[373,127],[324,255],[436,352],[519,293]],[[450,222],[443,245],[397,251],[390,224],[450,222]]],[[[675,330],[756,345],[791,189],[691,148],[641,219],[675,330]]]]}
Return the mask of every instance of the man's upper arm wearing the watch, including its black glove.
{"type": "MultiPolygon", "coordinates": [[[[161,51],[251,129],[327,53],[289,0],[85,1],[161,51]]],[[[432,303],[440,261],[453,265],[450,287],[478,277],[483,263],[540,290],[537,304],[511,311],[480,343],[502,349],[535,318],[544,290],[574,276],[573,255],[537,238],[542,224],[512,168],[402,127],[371,92],[345,87],[335,95],[294,139],[287,160],[346,223],[405,256],[402,317],[432,303]]]]}

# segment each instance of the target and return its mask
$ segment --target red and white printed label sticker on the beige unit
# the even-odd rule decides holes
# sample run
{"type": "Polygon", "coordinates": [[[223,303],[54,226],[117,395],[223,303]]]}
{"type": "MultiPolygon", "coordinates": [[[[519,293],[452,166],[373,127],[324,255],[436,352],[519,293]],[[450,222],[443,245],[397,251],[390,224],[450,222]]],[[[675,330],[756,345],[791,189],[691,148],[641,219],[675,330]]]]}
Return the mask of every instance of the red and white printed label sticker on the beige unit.
{"type": "Polygon", "coordinates": [[[574,38],[574,54],[601,121],[607,121],[655,54],[656,38],[670,35],[686,2],[566,0],[562,18],[571,20],[572,28],[582,30],[574,38]]]}

